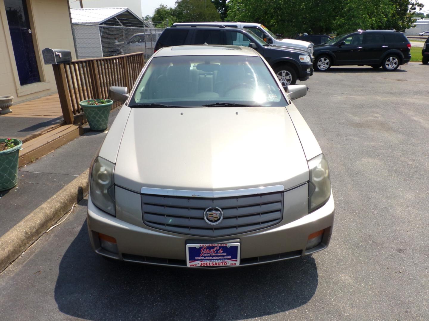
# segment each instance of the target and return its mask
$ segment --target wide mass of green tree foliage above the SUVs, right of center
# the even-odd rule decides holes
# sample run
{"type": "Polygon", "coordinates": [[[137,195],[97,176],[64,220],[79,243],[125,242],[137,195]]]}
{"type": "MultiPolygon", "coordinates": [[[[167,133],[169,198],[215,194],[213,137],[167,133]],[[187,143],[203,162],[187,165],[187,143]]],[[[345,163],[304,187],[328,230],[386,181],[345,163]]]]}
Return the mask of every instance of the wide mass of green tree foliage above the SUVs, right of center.
{"type": "Polygon", "coordinates": [[[357,29],[403,31],[423,4],[416,0],[230,0],[228,21],[264,24],[274,33],[347,33],[357,29]]]}

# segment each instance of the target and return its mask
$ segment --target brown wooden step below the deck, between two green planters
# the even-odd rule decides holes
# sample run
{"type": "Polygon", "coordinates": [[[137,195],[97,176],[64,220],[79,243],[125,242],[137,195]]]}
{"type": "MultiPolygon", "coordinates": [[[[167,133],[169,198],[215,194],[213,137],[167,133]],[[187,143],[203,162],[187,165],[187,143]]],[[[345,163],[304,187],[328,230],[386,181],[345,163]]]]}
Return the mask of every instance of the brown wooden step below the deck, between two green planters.
{"type": "Polygon", "coordinates": [[[19,152],[18,166],[24,166],[48,154],[54,149],[74,140],[81,134],[83,134],[83,129],[78,125],[64,125],[32,140],[28,140],[22,144],[22,150],[19,152]]]}

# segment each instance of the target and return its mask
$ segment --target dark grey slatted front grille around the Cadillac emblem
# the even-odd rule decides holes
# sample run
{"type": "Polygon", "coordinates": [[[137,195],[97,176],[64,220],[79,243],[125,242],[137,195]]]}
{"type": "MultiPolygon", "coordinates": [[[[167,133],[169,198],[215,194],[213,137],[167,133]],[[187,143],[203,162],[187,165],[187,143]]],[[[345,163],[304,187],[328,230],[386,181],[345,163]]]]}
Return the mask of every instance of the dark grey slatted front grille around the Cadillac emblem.
{"type": "Polygon", "coordinates": [[[163,231],[208,238],[251,232],[280,223],[283,193],[216,198],[142,194],[143,222],[163,231]],[[216,207],[224,218],[210,225],[204,211],[216,207]]]}

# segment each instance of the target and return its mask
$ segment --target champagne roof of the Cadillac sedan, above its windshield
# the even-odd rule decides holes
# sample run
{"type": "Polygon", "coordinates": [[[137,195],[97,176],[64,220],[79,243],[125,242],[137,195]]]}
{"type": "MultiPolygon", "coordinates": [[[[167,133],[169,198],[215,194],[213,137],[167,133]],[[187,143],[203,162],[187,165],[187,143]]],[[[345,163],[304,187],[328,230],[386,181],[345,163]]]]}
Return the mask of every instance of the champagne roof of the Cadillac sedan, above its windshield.
{"type": "Polygon", "coordinates": [[[260,56],[250,47],[228,45],[186,45],[163,47],[154,57],[166,56],[260,56]]]}

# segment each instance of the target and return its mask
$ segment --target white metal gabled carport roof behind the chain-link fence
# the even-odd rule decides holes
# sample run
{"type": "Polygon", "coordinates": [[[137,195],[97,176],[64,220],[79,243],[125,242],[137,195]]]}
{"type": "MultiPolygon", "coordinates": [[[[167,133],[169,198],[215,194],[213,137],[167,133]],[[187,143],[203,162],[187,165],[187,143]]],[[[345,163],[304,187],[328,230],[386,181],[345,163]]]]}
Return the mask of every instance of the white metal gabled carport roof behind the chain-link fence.
{"type": "Polygon", "coordinates": [[[125,27],[148,27],[127,7],[70,9],[74,24],[108,24],[125,27]]]}

